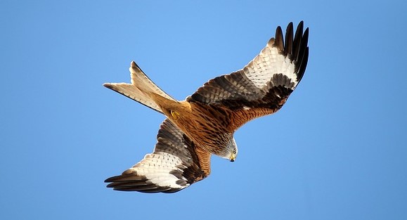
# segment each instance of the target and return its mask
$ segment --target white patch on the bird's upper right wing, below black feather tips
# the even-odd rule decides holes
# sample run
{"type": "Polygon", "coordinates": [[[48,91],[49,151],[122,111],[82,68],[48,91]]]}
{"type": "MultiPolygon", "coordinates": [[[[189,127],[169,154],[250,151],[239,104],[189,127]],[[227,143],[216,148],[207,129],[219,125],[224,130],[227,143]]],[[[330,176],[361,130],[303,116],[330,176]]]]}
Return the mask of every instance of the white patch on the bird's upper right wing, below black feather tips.
{"type": "Polygon", "coordinates": [[[273,46],[271,41],[258,56],[243,68],[243,72],[259,89],[267,86],[273,75],[280,73],[291,79],[291,82],[294,82],[294,87],[298,83],[294,63],[291,62],[290,58],[278,53],[278,48],[273,46]]]}

